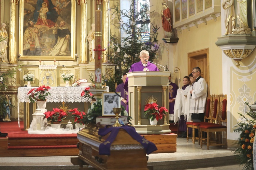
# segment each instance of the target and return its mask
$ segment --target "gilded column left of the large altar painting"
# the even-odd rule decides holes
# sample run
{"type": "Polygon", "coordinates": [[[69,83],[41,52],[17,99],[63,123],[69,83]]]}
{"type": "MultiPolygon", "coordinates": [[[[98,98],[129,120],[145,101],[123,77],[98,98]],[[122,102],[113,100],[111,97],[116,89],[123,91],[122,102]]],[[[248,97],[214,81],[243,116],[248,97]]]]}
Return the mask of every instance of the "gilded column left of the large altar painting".
{"type": "MultiPolygon", "coordinates": [[[[10,27],[9,27],[9,60],[11,64],[17,64],[17,33],[15,32],[16,26],[16,4],[19,0],[10,0],[11,9],[10,9],[10,27]]],[[[17,29],[18,30],[18,29],[17,29]]]]}

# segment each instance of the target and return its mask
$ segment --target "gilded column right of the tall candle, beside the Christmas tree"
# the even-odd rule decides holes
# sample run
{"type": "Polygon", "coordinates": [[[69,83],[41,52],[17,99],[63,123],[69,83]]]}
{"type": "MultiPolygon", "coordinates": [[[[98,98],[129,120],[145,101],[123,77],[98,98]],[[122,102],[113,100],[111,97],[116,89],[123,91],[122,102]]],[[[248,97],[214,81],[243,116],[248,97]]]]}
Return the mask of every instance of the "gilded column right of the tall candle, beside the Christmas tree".
{"type": "Polygon", "coordinates": [[[109,39],[110,39],[110,15],[109,15],[109,0],[103,0],[102,7],[102,45],[105,48],[104,55],[102,56],[102,63],[109,61],[109,39]]]}

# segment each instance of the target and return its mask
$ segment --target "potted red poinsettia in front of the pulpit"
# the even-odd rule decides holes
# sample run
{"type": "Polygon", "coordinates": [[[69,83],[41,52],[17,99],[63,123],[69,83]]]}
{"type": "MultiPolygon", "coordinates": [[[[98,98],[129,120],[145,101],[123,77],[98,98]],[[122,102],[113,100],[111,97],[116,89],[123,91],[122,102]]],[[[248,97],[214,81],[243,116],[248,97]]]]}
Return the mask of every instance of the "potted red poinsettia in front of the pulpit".
{"type": "Polygon", "coordinates": [[[148,119],[150,119],[151,125],[156,125],[159,119],[165,119],[164,116],[166,116],[167,112],[167,108],[158,107],[158,104],[155,102],[148,103],[144,107],[144,114],[148,116],[148,119]]]}

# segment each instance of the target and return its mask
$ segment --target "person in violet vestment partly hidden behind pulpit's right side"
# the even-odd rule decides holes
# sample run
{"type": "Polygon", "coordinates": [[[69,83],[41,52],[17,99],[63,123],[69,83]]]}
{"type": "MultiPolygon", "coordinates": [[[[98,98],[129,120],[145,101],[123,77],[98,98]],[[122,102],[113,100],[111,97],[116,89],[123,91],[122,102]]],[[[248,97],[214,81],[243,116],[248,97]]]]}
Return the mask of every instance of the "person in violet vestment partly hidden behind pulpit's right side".
{"type": "Polygon", "coordinates": [[[169,76],[169,83],[169,120],[173,121],[175,98],[179,87],[175,83],[171,82],[171,74],[169,76]]]}

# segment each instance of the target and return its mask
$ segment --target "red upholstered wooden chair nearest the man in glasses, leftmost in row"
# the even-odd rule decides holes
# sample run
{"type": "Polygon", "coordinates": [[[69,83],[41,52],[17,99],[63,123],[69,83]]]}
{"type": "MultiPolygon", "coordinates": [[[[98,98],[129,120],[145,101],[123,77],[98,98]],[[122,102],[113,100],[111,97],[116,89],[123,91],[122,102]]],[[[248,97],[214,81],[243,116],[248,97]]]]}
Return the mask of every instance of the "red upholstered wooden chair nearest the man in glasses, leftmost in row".
{"type": "Polygon", "coordinates": [[[204,121],[203,122],[187,122],[187,142],[191,137],[188,137],[188,128],[192,128],[192,142],[195,143],[195,140],[198,140],[198,145],[200,145],[200,129],[199,125],[203,123],[212,122],[211,118],[213,116],[214,111],[214,98],[215,94],[210,95],[206,100],[206,108],[205,108],[205,115],[204,115],[204,121]],[[199,137],[195,137],[195,129],[198,129],[198,135],[199,137]]]}

